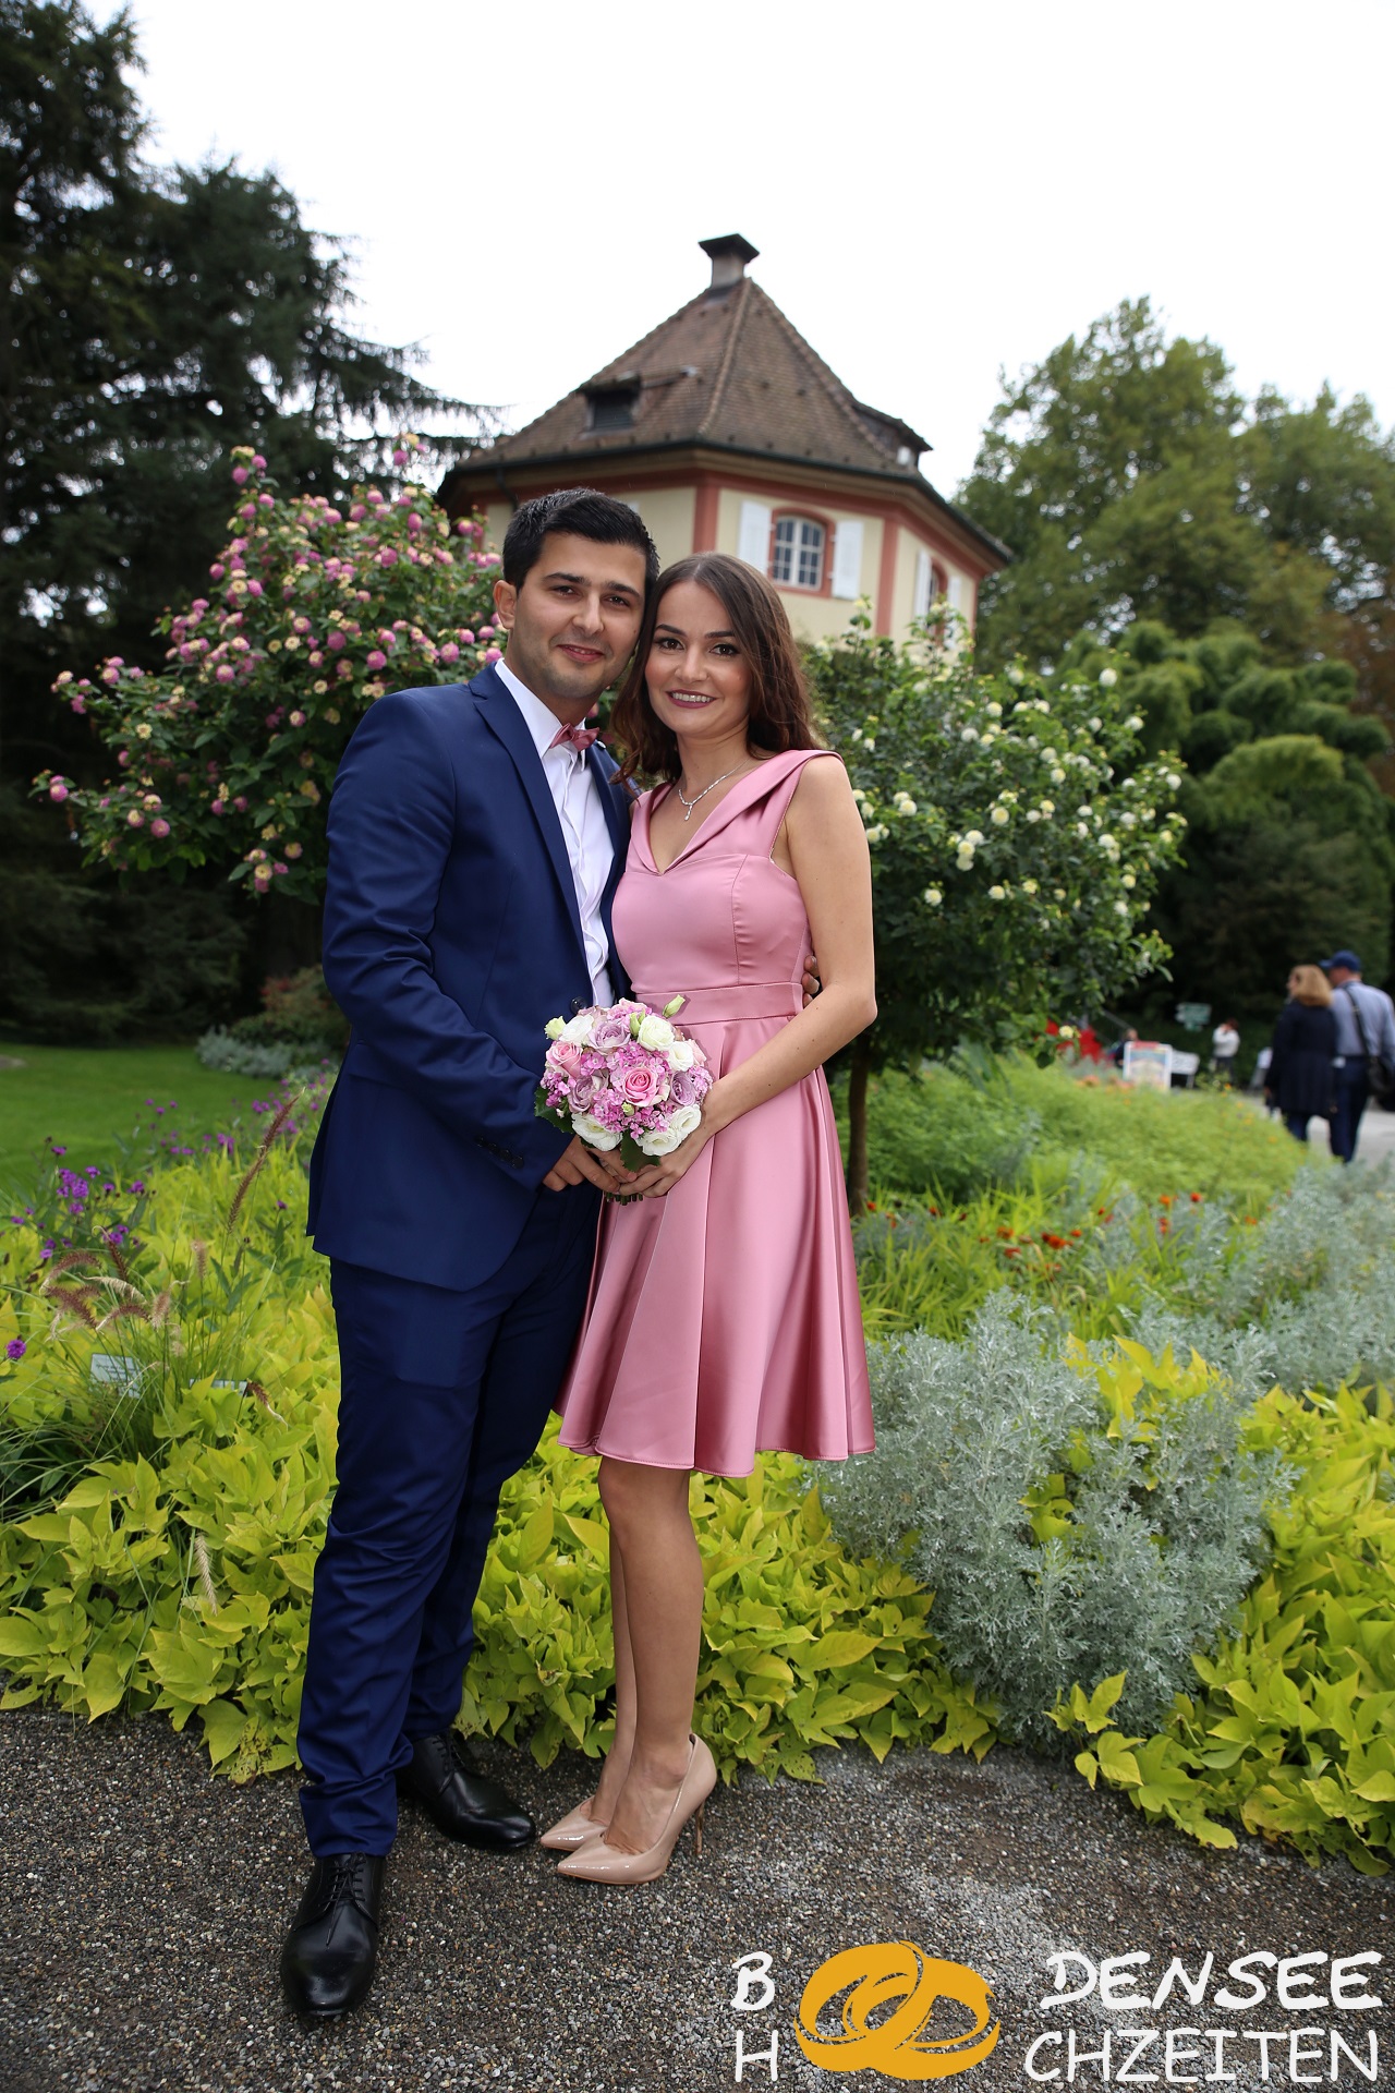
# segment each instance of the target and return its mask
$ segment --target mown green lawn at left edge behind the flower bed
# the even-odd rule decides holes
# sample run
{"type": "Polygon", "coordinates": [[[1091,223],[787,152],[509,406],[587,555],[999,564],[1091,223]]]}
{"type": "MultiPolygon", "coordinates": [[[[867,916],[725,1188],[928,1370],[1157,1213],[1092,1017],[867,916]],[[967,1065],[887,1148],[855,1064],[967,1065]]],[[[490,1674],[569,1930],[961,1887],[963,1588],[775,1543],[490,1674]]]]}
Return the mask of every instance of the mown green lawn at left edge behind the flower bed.
{"type": "Polygon", "coordinates": [[[253,1097],[276,1084],[266,1076],[220,1076],[203,1067],[192,1046],[21,1046],[0,1042],[0,1185],[29,1191],[44,1141],[67,1149],[67,1162],[115,1162],[119,1141],[144,1153],[176,1128],[207,1128],[251,1120],[253,1097]],[[174,1111],[169,1105],[174,1103],[174,1111]],[[157,1118],[155,1107],[163,1107],[157,1118]]]}

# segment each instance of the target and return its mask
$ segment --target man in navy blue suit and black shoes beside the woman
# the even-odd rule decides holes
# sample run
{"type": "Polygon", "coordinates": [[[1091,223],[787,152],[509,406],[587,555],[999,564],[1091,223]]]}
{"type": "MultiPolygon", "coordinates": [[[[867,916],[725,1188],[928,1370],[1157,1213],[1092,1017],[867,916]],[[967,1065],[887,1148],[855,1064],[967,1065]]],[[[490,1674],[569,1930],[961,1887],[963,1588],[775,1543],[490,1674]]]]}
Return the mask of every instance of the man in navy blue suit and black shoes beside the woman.
{"type": "Polygon", "coordinates": [[[301,1702],[310,1886],[280,1957],[301,2013],[370,1984],[397,1794],[450,1836],[533,1825],[452,1737],[502,1484],[586,1304],[613,1157],[533,1116],[544,1023],[623,992],[630,810],[581,722],[634,651],[659,557],[590,488],[504,538],[506,659],[383,697],[328,814],[324,975],[353,1038],[310,1168],[339,1321],[339,1488],[301,1702]]]}

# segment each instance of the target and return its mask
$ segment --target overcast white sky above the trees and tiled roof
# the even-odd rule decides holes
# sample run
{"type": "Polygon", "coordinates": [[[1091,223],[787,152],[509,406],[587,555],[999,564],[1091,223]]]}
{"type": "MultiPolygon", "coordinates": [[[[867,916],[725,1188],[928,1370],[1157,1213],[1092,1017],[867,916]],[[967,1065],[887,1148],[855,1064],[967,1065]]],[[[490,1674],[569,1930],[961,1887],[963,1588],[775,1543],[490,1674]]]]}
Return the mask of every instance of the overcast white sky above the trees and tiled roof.
{"type": "MultiPolygon", "coordinates": [[[[109,6],[90,0],[102,19],[109,6]]],[[[134,0],[161,159],[274,165],[360,324],[517,427],[753,274],[943,492],[1121,297],[1395,421],[1395,0],[134,0]]]]}

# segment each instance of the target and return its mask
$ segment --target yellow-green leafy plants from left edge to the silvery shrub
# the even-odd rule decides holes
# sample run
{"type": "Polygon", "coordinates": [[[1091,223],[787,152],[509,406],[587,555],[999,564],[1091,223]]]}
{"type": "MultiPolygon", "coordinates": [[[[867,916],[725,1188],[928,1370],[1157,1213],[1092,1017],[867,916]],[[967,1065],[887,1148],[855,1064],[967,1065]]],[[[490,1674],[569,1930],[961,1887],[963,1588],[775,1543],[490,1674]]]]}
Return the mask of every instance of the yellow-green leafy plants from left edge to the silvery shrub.
{"type": "MultiPolygon", "coordinates": [[[[2,1706],[163,1710],[176,1729],[199,1716],[213,1764],[247,1779],[295,1762],[339,1360],[322,1266],[284,1220],[303,1203],[299,1166],[276,1151],[220,1239],[234,1187],[226,1157],[163,1172],[130,1281],[94,1260],[38,1291],[38,1237],[6,1239],[21,1283],[0,1306],[0,1350],[27,1340],[4,1383],[10,1473],[21,1436],[52,1476],[65,1459],[75,1473],[48,1509],[0,1524],[0,1664],[2,1706]],[[268,1241],[278,1258],[259,1254],[268,1241]],[[130,1312],[90,1329],[84,1306],[98,1323],[130,1312]],[[123,1379],[94,1383],[94,1356],[123,1360],[123,1379]]],[[[991,1712],[931,1637],[931,1595],[893,1563],[853,1561],[797,1461],[696,1480],[694,1513],[699,1723],[728,1775],[814,1777],[809,1750],[849,1739],[878,1756],[897,1741],[989,1748],[991,1712]]],[[[594,1461],[554,1432],[506,1490],[477,1624],[462,1727],[527,1739],[544,1764],[563,1746],[600,1752],[607,1530],[594,1461]]]]}

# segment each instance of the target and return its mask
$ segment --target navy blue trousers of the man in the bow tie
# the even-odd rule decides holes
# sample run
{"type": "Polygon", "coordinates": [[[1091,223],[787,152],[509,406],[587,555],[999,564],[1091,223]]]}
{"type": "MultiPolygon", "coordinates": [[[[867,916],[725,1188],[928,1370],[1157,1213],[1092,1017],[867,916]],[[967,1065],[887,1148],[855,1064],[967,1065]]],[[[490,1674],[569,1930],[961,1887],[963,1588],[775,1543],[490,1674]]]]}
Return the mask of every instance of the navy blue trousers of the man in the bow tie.
{"type": "MultiPolygon", "coordinates": [[[[529,1459],[586,1306],[598,1197],[540,1191],[466,1293],[333,1262],[339,1488],[301,1697],[310,1850],[387,1852],[412,1739],[450,1729],[504,1482],[529,1459]]],[[[464,1226],[464,1218],[462,1218],[464,1226]]]]}

